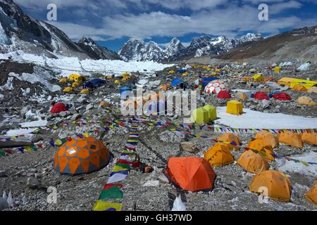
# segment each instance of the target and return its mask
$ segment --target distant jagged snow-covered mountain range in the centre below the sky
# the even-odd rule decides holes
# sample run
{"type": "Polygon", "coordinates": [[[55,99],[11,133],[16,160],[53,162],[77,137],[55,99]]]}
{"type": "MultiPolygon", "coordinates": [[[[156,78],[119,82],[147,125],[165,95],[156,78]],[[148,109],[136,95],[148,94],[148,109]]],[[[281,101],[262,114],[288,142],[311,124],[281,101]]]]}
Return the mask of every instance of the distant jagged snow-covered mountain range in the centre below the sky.
{"type": "Polygon", "coordinates": [[[261,34],[251,33],[235,39],[229,39],[224,36],[212,39],[209,36],[204,36],[193,39],[189,46],[185,48],[178,39],[173,38],[164,49],[161,49],[153,41],[145,43],[138,39],[130,39],[121,47],[118,54],[123,60],[173,61],[205,55],[217,56],[234,49],[244,42],[259,41],[261,39],[263,39],[261,34]]]}

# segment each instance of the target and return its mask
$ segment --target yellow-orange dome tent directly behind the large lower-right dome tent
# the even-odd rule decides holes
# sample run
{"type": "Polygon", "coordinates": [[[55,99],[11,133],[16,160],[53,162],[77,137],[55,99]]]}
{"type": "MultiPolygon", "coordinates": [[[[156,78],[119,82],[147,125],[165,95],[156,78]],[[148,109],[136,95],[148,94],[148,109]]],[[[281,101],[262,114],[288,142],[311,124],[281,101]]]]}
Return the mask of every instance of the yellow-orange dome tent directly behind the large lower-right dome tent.
{"type": "Polygon", "coordinates": [[[253,150],[246,150],[237,160],[237,165],[240,165],[247,172],[257,174],[259,172],[266,171],[270,168],[268,161],[258,153],[254,153],[253,150]]]}

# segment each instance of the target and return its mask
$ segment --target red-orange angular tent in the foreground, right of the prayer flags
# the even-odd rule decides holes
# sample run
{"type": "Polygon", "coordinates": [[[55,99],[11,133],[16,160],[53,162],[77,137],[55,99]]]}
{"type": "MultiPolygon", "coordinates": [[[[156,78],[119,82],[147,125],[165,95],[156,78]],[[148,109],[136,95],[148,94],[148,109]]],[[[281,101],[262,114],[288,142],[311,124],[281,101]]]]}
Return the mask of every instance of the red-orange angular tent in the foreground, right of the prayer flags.
{"type": "Polygon", "coordinates": [[[204,158],[169,158],[166,174],[176,186],[186,191],[213,188],[216,173],[204,158]]]}

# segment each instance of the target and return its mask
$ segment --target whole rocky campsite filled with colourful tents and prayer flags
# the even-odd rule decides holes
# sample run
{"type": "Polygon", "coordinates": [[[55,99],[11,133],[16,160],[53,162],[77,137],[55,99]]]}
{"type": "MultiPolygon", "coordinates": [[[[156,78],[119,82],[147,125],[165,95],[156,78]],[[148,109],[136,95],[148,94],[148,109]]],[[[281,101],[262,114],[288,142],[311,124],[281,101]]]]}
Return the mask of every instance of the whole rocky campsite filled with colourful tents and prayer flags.
{"type": "Polygon", "coordinates": [[[37,82],[20,64],[0,79],[0,210],[316,210],[316,63],[23,65],[37,82]],[[196,108],[167,115],[168,91],[196,108]]]}

